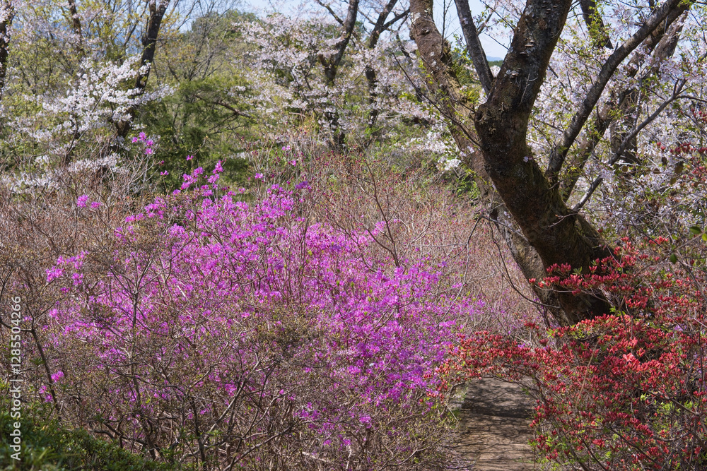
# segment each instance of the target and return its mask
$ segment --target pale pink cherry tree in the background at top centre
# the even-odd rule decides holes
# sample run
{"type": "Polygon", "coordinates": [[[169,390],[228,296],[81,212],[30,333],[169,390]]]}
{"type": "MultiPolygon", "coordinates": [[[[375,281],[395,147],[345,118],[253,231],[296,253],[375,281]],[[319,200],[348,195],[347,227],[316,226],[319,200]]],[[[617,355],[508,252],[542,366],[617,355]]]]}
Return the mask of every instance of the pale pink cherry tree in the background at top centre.
{"type": "Polygon", "coordinates": [[[405,44],[392,31],[403,24],[407,8],[397,1],[317,3],[323,9],[305,20],[275,14],[246,25],[258,46],[250,53],[250,81],[260,84],[254,107],[262,104],[274,114],[284,99],[296,113],[314,112],[329,144],[339,150],[354,129],[363,136],[382,131],[390,118],[422,115],[414,102],[401,99],[414,93],[406,75],[417,76],[405,44]]]}

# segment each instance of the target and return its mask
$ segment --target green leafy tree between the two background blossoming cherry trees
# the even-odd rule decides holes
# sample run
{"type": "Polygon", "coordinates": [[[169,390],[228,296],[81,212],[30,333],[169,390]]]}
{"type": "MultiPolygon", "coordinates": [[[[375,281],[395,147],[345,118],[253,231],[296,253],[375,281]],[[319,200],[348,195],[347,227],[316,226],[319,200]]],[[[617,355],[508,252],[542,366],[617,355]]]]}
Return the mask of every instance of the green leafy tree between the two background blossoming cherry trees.
{"type": "Polygon", "coordinates": [[[211,13],[158,49],[162,82],[173,93],[146,105],[137,119],[142,131],[159,138],[155,156],[164,161],[160,184],[166,189],[180,186],[182,174],[214,167],[218,160],[222,181],[243,184],[247,161],[232,157],[243,152],[244,138],[255,140],[259,128],[245,104],[252,93],[243,65],[233,60],[248,48],[234,25],[252,20],[252,14],[238,11],[211,13]],[[187,162],[187,155],[194,158],[187,162]]]}

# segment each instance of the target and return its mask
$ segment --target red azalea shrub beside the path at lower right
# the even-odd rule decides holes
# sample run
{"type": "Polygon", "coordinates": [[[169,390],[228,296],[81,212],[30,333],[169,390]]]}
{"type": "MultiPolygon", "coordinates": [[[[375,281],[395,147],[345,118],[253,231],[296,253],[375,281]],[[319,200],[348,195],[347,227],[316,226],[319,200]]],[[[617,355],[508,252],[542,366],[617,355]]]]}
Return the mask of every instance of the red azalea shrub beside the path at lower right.
{"type": "Polygon", "coordinates": [[[462,337],[440,369],[441,390],[489,374],[525,383],[537,399],[534,446],[573,469],[702,469],[704,275],[691,263],[661,263],[671,252],[665,238],[640,247],[623,242],[616,258],[597,261],[591,273],[555,266],[539,282],[601,289],[620,311],[571,327],[527,323],[532,341],[525,344],[488,332],[462,337]]]}

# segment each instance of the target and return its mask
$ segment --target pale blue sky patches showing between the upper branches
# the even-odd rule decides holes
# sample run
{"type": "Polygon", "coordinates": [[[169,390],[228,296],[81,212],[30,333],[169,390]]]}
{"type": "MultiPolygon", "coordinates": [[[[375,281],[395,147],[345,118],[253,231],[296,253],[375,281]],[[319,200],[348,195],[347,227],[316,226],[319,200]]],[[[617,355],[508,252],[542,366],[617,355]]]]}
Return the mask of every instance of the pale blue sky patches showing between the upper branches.
{"type": "MultiPolygon", "coordinates": [[[[287,10],[292,10],[300,4],[305,2],[311,2],[314,4],[314,0],[243,0],[244,9],[251,11],[263,11],[263,10],[277,10],[285,13],[287,10]]],[[[479,0],[469,0],[469,7],[472,10],[472,14],[477,14],[481,12],[484,8],[483,4],[479,0]]],[[[459,25],[459,19],[457,18],[457,9],[454,5],[454,0],[435,0],[435,21],[438,28],[442,28],[445,25],[445,37],[452,40],[454,35],[462,37],[462,30],[459,25]],[[447,18],[443,21],[443,11],[447,7],[447,18]]],[[[486,36],[484,34],[480,35],[481,45],[484,46],[484,51],[489,59],[503,58],[506,55],[506,46],[503,44],[498,44],[493,38],[486,36]]],[[[510,42],[510,38],[508,40],[510,42]]]]}

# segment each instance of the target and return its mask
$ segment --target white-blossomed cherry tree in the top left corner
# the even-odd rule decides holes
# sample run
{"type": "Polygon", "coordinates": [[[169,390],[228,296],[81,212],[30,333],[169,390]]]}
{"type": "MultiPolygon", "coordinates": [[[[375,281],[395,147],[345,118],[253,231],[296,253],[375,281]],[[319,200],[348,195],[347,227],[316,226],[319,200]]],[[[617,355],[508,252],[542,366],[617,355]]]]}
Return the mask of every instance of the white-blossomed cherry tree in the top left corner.
{"type": "MultiPolygon", "coordinates": [[[[32,142],[29,153],[50,166],[71,164],[86,141],[101,158],[116,153],[136,110],[169,93],[146,87],[161,22],[175,16],[175,6],[163,0],[14,2],[16,38],[11,54],[5,47],[2,56],[8,132],[32,142]]],[[[16,158],[25,167],[36,163],[26,153],[16,158]]]]}

